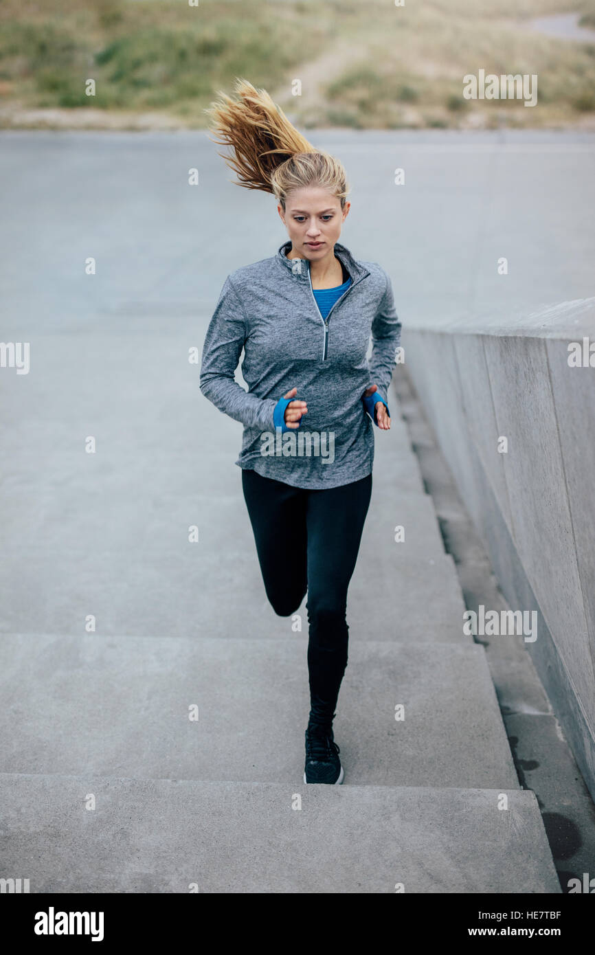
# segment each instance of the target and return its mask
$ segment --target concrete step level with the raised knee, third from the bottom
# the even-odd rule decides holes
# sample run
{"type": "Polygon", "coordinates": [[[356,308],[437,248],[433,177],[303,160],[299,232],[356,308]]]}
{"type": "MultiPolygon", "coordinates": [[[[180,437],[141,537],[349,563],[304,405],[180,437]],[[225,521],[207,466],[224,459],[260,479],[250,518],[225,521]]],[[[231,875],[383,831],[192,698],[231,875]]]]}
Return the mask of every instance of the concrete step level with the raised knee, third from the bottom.
{"type": "MultiPolygon", "coordinates": [[[[266,601],[254,541],[244,537],[241,549],[231,543],[219,549],[214,541],[186,542],[175,552],[136,558],[126,549],[96,551],[84,541],[68,551],[14,544],[11,562],[0,565],[0,592],[11,594],[0,605],[0,632],[83,634],[89,613],[104,635],[290,632],[291,618],[278,617],[266,601]]],[[[351,578],[348,623],[354,632],[471,642],[462,634],[464,605],[450,556],[378,561],[370,544],[364,542],[351,578]]],[[[304,626],[306,603],[298,610],[304,626]]]]}

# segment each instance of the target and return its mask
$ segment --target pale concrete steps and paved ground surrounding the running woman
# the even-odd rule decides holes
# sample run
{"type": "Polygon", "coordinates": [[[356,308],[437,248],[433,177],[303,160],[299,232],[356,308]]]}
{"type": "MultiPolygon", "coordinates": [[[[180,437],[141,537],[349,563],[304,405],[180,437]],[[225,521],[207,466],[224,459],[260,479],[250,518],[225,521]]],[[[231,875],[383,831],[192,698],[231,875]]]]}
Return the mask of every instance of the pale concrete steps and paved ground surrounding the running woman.
{"type": "MultiPolygon", "coordinates": [[[[489,302],[504,239],[511,302],[533,303],[538,278],[546,299],[588,294],[568,247],[593,242],[588,141],[502,136],[319,137],[354,186],[342,241],[392,274],[404,324],[489,302]]],[[[266,604],[242,429],[188,362],[225,275],[285,240],[272,197],[233,186],[202,134],[2,140],[3,339],[31,345],[28,374],[0,369],[2,875],[56,892],[559,892],[396,393],[351,586],[345,785],[302,783],[305,610],[296,632],[266,604]]]]}

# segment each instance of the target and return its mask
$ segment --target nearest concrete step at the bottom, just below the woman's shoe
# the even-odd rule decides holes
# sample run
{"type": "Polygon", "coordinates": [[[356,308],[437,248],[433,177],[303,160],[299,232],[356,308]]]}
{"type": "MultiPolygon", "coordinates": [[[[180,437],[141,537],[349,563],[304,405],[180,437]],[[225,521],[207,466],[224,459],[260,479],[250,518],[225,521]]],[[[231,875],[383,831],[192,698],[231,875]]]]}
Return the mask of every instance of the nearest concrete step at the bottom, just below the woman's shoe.
{"type": "Polygon", "coordinates": [[[5,773],[0,802],[32,893],[561,892],[528,790],[5,773]]]}

